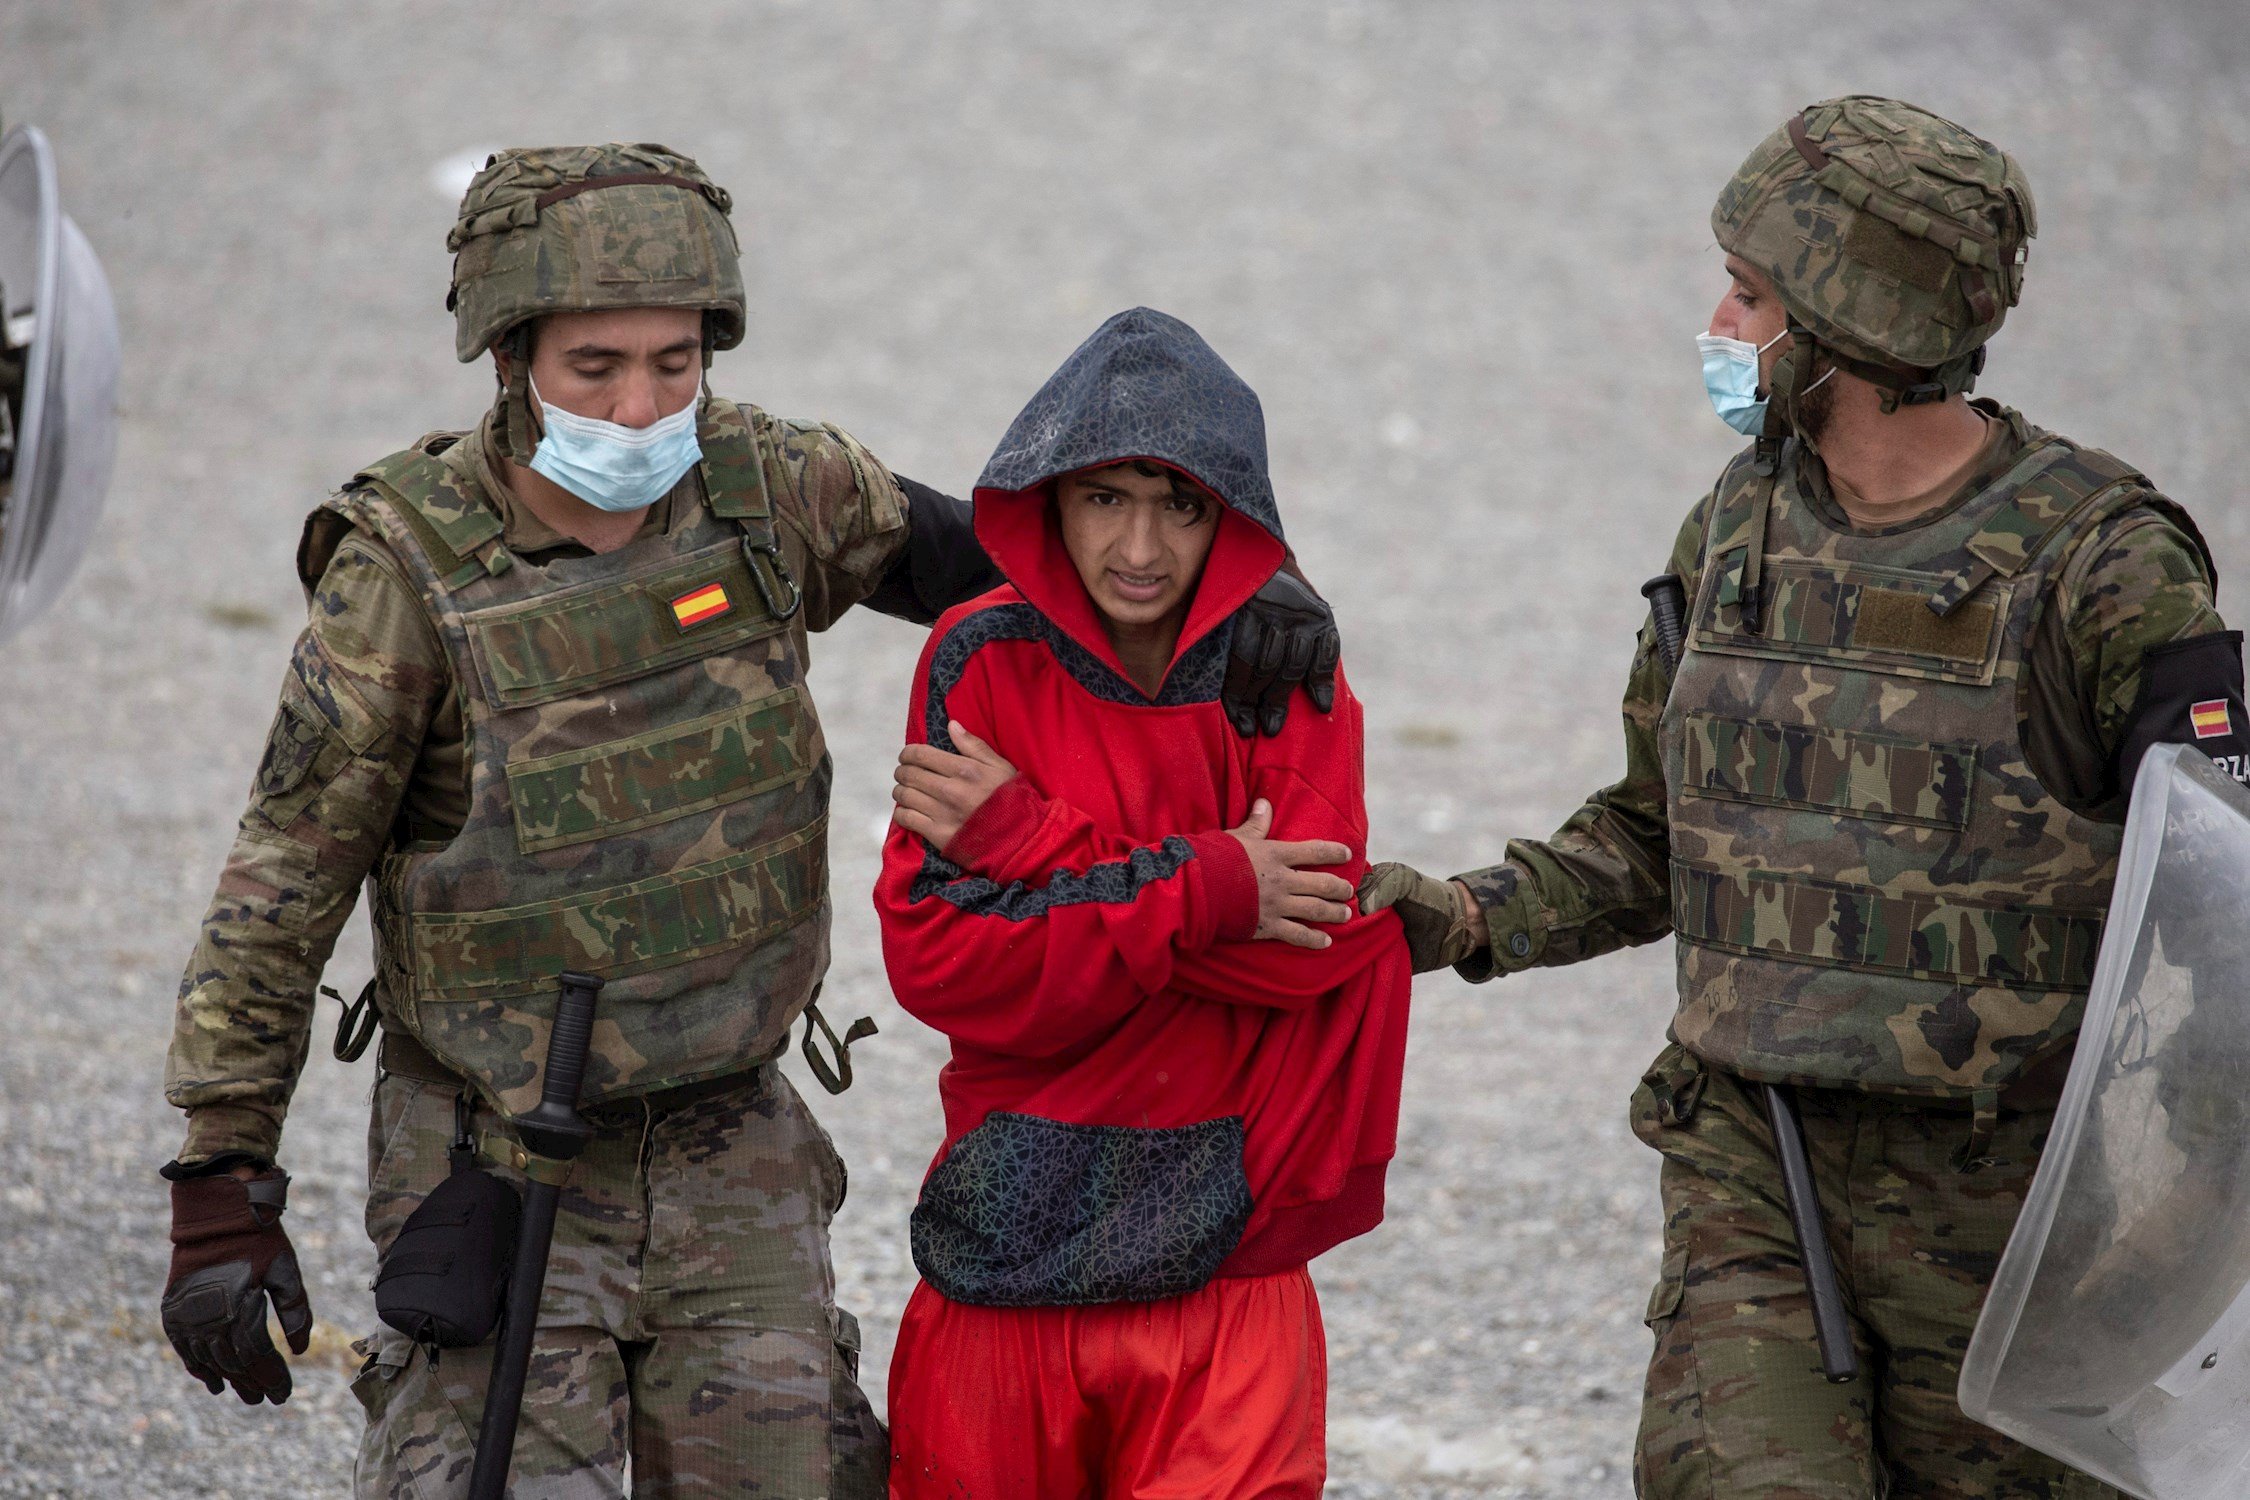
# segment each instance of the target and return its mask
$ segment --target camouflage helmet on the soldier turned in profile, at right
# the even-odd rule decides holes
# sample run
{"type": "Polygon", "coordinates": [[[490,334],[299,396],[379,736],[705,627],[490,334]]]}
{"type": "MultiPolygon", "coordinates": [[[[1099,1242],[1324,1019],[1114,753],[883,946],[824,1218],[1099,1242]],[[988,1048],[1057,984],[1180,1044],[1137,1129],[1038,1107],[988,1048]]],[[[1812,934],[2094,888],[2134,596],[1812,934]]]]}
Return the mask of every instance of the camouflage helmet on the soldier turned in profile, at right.
{"type": "MultiPolygon", "coordinates": [[[[1710,227],[1773,281],[1791,328],[1883,387],[1890,409],[1976,382],[1984,340],[2023,297],[2038,220],[1998,146],[1912,103],[1850,94],[1768,135],[1710,227]]],[[[1791,364],[1802,376],[1809,358],[1791,364]]],[[[1775,376],[1782,398],[1793,382],[1775,376]]]]}

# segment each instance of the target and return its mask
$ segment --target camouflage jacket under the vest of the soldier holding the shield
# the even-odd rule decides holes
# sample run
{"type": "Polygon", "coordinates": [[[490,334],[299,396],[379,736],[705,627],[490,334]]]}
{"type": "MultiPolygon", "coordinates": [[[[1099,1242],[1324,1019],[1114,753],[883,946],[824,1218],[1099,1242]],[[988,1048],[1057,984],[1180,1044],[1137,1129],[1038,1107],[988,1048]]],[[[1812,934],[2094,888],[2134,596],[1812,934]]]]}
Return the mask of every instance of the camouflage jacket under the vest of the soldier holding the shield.
{"type": "MultiPolygon", "coordinates": [[[[2007,432],[1953,504],[1994,484],[2036,434],[2016,412],[1987,400],[1976,405],[2007,423],[2007,432]]],[[[1804,459],[1800,484],[1832,524],[1847,526],[1818,459],[1804,459]]],[[[1690,510],[1667,564],[1690,598],[1703,576],[1710,499],[1706,495],[1690,510]]],[[[2128,792],[2117,780],[2117,751],[2140,697],[2142,654],[2225,630],[2225,623],[2212,600],[2214,580],[2200,544],[2153,497],[2090,528],[2054,576],[2059,582],[2034,625],[2016,702],[2020,738],[2032,771],[2056,801],[2115,823],[2124,819],[2128,792]]],[[[1667,693],[1670,675],[1652,630],[1642,627],[1624,688],[1624,776],[1588,796],[1550,839],[1514,839],[1503,864],[1458,877],[1476,893],[1492,933],[1487,949],[1458,965],[1465,978],[1577,963],[1672,931],[1672,839],[1658,740],[1667,693]]]]}

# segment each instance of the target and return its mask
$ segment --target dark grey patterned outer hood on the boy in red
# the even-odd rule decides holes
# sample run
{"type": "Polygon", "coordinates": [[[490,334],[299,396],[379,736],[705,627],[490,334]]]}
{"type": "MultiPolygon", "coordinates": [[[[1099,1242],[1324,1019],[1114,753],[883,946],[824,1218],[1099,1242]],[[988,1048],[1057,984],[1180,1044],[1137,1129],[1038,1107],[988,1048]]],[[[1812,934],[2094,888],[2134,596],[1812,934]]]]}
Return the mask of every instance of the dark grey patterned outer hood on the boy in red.
{"type": "Polygon", "coordinates": [[[1267,475],[1258,394],[1195,328],[1154,308],[1118,313],[1048,376],[976,488],[1022,493],[1120,459],[1181,468],[1287,540],[1267,475]]]}

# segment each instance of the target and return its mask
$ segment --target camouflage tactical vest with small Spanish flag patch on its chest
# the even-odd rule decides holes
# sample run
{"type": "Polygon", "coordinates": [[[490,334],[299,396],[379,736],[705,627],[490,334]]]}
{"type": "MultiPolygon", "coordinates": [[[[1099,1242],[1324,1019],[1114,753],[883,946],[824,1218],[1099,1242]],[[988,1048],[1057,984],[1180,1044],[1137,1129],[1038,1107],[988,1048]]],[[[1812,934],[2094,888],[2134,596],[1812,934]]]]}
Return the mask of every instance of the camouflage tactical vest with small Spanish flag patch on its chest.
{"type": "Polygon", "coordinates": [[[452,663],[468,823],[369,875],[387,1023],[538,1102],[556,976],[605,983],[585,1102],[765,1061],[828,967],[828,751],[756,409],[706,400],[666,533],[538,564],[425,439],[328,506],[410,569],[452,663]]]}

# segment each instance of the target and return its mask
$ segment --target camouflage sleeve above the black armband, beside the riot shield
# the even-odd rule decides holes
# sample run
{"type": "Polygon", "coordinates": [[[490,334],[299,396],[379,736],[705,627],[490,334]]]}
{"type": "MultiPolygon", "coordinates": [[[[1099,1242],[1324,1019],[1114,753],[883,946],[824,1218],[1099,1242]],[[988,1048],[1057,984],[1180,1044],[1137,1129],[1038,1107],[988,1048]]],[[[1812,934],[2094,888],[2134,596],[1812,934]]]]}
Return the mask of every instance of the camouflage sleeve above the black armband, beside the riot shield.
{"type": "Polygon", "coordinates": [[[2122,819],[2120,751],[2142,704],[2153,648],[2225,630],[2203,546],[2164,510],[2138,506],[2097,526],[2063,564],[2063,609],[2041,618],[2023,702],[2032,769],[2063,803],[2122,819]]]}

